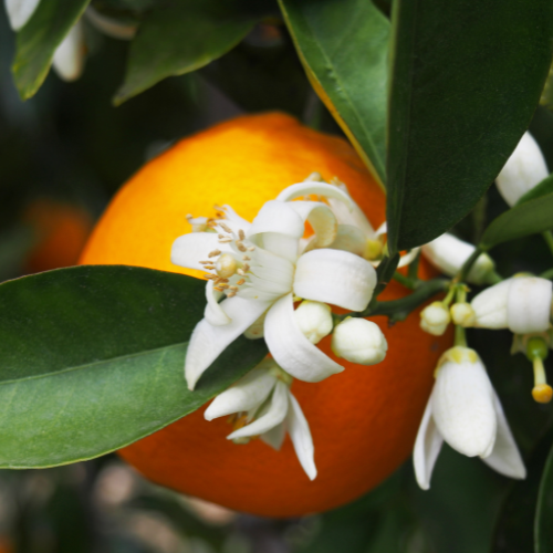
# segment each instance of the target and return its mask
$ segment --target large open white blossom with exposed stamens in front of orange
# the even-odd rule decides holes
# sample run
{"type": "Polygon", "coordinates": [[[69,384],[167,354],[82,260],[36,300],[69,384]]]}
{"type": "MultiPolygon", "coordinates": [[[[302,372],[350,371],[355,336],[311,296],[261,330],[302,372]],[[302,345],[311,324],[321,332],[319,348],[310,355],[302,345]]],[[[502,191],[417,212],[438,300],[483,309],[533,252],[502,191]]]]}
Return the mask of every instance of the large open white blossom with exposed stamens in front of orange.
{"type": "Polygon", "coordinates": [[[355,213],[352,198],[336,186],[305,181],[264,204],[252,223],[225,206],[205,232],[175,241],[174,263],[209,271],[205,319],[192,333],[185,362],[190,389],[219,354],[254,323],[275,362],[293,377],[320,382],[344,369],[304,335],[294,315],[294,301],[363,311],[372,299],[376,271],[363,257],[331,248],[338,234],[334,208],[323,201],[292,201],[307,195],[323,197],[328,204],[338,200],[355,213]],[[306,221],[314,230],[307,240],[306,221]],[[220,262],[225,255],[233,258],[234,274],[230,274],[232,263],[220,262]],[[222,264],[225,276],[218,273],[222,264]]]}

